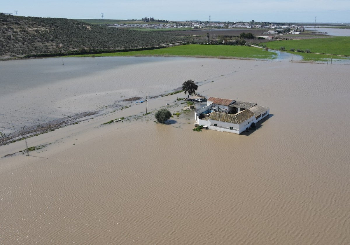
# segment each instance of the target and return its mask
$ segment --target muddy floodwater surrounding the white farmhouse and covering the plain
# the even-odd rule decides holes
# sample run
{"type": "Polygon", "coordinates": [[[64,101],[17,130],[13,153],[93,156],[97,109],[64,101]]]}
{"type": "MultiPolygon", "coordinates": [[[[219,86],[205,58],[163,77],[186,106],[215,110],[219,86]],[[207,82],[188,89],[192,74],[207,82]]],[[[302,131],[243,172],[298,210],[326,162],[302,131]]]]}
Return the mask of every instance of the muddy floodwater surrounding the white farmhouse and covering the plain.
{"type": "Polygon", "coordinates": [[[0,156],[16,153],[0,158],[0,244],[350,244],[347,65],[55,62],[62,59],[1,62],[12,81],[1,81],[3,129],[110,109],[28,138],[29,147],[45,146],[30,156],[16,153],[23,140],[0,147],[0,156]],[[194,111],[164,125],[144,115],[146,103],[122,103],[148,92],[148,112],[166,103],[181,111],[174,101],[183,93],[157,95],[188,79],[203,95],[255,102],[271,115],[242,135],[195,132],[194,111]]]}

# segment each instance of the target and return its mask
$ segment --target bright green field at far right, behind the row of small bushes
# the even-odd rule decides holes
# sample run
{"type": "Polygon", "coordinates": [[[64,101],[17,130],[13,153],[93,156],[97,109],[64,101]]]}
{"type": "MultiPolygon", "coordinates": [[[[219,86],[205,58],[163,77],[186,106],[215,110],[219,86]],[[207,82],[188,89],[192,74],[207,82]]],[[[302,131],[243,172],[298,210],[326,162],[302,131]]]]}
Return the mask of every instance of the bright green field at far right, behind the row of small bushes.
{"type": "MultiPolygon", "coordinates": [[[[329,37],[304,40],[282,40],[265,43],[270,49],[310,49],[313,53],[350,56],[350,37],[329,37]]],[[[300,54],[299,52],[297,54],[300,54]]]]}

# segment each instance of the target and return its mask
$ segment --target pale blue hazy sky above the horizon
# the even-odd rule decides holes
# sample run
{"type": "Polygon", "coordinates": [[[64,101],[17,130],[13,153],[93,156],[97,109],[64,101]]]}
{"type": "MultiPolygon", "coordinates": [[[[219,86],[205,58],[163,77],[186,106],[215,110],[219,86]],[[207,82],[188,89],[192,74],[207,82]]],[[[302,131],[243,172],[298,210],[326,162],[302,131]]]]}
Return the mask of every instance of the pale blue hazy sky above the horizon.
{"type": "Polygon", "coordinates": [[[68,19],[348,23],[350,0],[1,0],[0,12],[68,19]]]}

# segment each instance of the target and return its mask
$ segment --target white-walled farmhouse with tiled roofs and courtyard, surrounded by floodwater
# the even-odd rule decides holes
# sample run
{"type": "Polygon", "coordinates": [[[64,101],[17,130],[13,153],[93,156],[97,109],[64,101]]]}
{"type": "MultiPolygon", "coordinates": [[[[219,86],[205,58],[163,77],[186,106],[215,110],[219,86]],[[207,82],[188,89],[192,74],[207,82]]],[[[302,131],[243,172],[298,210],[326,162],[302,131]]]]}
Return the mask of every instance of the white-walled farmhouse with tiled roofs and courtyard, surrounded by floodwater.
{"type": "Polygon", "coordinates": [[[265,106],[210,97],[207,106],[195,111],[195,120],[212,130],[240,134],[270,113],[265,106]]]}

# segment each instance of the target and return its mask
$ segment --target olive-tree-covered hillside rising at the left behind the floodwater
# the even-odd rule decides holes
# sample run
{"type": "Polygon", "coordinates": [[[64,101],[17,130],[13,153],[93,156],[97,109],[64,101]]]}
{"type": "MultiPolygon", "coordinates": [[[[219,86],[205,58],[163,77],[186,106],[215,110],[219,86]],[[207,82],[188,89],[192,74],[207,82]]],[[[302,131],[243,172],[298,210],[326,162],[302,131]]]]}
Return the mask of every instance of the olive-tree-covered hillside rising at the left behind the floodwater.
{"type": "Polygon", "coordinates": [[[135,49],[182,41],[184,37],[179,33],[142,32],[72,19],[0,13],[0,56],[135,49]]]}

